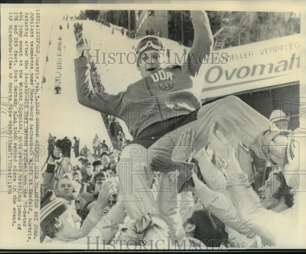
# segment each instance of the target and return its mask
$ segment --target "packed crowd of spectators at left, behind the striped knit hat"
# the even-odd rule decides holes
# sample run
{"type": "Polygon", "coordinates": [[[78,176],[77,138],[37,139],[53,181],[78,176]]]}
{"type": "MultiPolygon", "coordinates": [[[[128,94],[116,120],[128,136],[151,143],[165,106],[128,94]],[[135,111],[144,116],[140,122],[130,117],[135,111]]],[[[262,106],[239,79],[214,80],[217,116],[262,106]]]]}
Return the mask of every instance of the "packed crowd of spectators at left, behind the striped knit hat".
{"type": "MultiPolygon", "coordinates": [[[[47,169],[43,173],[42,194],[51,196],[51,199],[66,200],[66,203],[63,201],[66,208],[62,210],[69,210],[69,218],[71,217],[73,220],[77,218],[76,221],[80,222],[80,225],[84,222],[91,208],[95,207],[94,204],[99,200],[99,195],[102,196],[99,193],[103,183],[110,182],[112,191],[109,196],[106,195],[107,193],[103,193],[103,195],[106,195],[103,196],[103,200],[107,200],[107,203],[103,206],[102,213],[106,214],[116,203],[118,176],[115,168],[117,163],[114,156],[109,154],[105,140],[100,142],[97,135],[95,140],[98,140],[98,150],[102,150],[102,153],[98,153],[94,157],[86,145],[80,151],[79,156],[79,139],[76,137],[74,137],[74,146],[72,146],[72,142],[67,137],[56,141],[56,137],[52,137],[49,134],[48,138],[49,153],[47,169]],[[63,145],[63,143],[67,144],[67,146],[63,145]],[[70,161],[71,149],[76,155],[76,164],[74,165],[70,161]]],[[[43,199],[41,208],[44,207],[46,199],[43,199]]],[[[50,202],[49,199],[48,202],[50,202]]],[[[66,213],[68,214],[68,211],[66,213]]],[[[50,214],[48,216],[50,217],[50,214]]],[[[60,229],[61,223],[58,222],[58,219],[53,222],[55,224],[51,227],[52,230],[47,227],[45,232],[41,231],[41,241],[44,241],[46,236],[47,240],[45,242],[50,241],[54,237],[55,231],[60,229]]]]}

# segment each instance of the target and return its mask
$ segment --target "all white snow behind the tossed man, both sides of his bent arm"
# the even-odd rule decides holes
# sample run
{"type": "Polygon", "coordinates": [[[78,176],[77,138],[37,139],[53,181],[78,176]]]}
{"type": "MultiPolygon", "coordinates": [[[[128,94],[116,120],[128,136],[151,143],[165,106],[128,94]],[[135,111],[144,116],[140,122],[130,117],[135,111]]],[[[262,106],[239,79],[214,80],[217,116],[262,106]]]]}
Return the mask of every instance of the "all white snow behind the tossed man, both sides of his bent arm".
{"type": "MultiPolygon", "coordinates": [[[[69,20],[68,20],[69,21],[69,20]]],[[[83,33],[88,42],[90,39],[93,41],[93,49],[99,49],[99,62],[96,64],[98,72],[101,75],[101,81],[105,87],[105,91],[110,94],[117,94],[121,91],[125,91],[127,86],[137,80],[141,79],[140,72],[136,68],[136,63],[129,64],[126,61],[124,55],[122,55],[122,63],[119,64],[119,55],[116,58],[116,63],[107,64],[107,56],[110,52],[124,52],[130,55],[129,61],[134,62],[136,39],[129,39],[126,35],[121,34],[120,31],[114,29],[112,34],[112,28],[101,25],[98,22],[91,20],[83,21],[69,21],[69,29],[67,28],[66,20],[55,20],[47,26],[44,31],[44,47],[41,56],[42,59],[46,59],[48,53],[48,62],[46,64],[46,70],[44,77],[46,82],[43,83],[41,94],[41,112],[40,112],[40,126],[41,136],[40,145],[46,147],[49,133],[52,136],[56,136],[57,139],[62,139],[67,136],[73,143],[73,136],[80,138],[80,150],[86,144],[89,149],[92,149],[92,140],[95,134],[98,134],[101,140],[105,139],[106,144],[111,145],[110,138],[107,134],[107,130],[103,123],[103,119],[98,111],[86,108],[80,105],[76,96],[76,84],[75,84],[75,72],[74,72],[74,59],[76,58],[76,39],[73,33],[75,22],[83,22],[83,33]],[[62,30],[59,26],[62,25],[62,30]],[[51,44],[48,45],[50,37],[51,44]],[[57,71],[56,54],[58,47],[58,37],[62,37],[62,70],[61,70],[61,94],[54,94],[54,83],[57,71]],[[49,50],[47,51],[47,47],[49,50]],[[103,54],[106,52],[106,64],[103,63],[103,54]]],[[[184,46],[180,46],[177,42],[168,39],[164,40],[168,48],[173,51],[183,54],[184,46]]],[[[173,55],[170,56],[170,59],[173,55]]],[[[113,62],[109,59],[110,62],[113,62]]],[[[43,63],[43,66],[45,63],[43,63]]],[[[128,129],[124,122],[119,119],[123,131],[126,134],[126,138],[132,140],[129,135],[128,129]]],[[[47,159],[47,153],[45,160],[47,159]]],[[[40,162],[44,163],[45,160],[40,162]]],[[[74,162],[74,153],[71,153],[71,161],[74,162]]],[[[41,166],[42,166],[41,165],[41,166]]]]}

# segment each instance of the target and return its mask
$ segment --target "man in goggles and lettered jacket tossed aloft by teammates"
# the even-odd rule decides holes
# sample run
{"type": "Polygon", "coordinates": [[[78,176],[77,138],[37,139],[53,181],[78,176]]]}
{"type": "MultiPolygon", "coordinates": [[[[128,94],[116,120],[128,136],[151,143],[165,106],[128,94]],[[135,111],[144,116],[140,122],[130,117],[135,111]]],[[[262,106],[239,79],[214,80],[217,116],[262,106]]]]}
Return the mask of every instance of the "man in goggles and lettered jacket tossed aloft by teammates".
{"type": "MultiPolygon", "coordinates": [[[[89,78],[90,72],[96,71],[93,62],[89,68],[86,66],[85,56],[75,59],[79,103],[121,118],[134,138],[120,154],[117,173],[123,200],[128,201],[127,213],[136,221],[146,214],[150,214],[149,217],[154,221],[153,217],[161,214],[159,209],[164,202],[157,204],[151,192],[155,173],[150,162],[160,153],[171,157],[167,152],[177,143],[183,129],[192,127],[197,130],[196,149],[200,150],[208,145],[209,128],[217,122],[216,128],[225,131],[230,140],[239,135],[244,146],[250,148],[254,145],[253,150],[258,155],[263,145],[270,144],[273,138],[275,141],[280,136],[279,130],[272,131],[268,119],[236,97],[230,96],[200,108],[204,77],[201,77],[199,71],[201,63],[205,63],[209,56],[213,36],[206,13],[190,11],[190,17],[194,40],[187,62],[182,66],[174,65],[163,69],[164,61],[161,58],[166,55],[165,44],[159,37],[146,36],[136,47],[137,69],[143,79],[129,85],[126,91],[117,95],[94,91],[94,84],[90,84],[89,78]]],[[[284,140],[275,143],[282,142],[286,144],[284,140]]],[[[188,195],[185,197],[188,199],[188,195]]],[[[169,218],[167,211],[166,216],[169,218]]],[[[162,232],[159,228],[162,233],[158,234],[183,239],[184,236],[175,233],[181,231],[179,229],[182,227],[177,223],[171,219],[167,224],[172,232],[162,232]]],[[[146,225],[143,227],[145,231],[146,225]]]]}

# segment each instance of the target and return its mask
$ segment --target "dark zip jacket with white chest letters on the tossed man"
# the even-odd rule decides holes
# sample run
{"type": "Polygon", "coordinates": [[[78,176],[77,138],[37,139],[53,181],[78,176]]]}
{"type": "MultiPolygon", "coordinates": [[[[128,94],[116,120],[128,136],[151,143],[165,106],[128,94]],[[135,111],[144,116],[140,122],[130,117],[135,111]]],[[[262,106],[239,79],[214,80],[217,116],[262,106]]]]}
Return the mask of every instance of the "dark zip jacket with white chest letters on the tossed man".
{"type": "Polygon", "coordinates": [[[86,57],[75,59],[76,91],[79,103],[122,119],[133,137],[154,123],[186,115],[200,108],[199,96],[203,83],[193,85],[190,76],[194,77],[199,72],[201,62],[204,62],[209,55],[213,38],[206,13],[191,11],[191,21],[194,28],[194,41],[189,52],[188,64],[160,69],[129,85],[126,91],[117,95],[94,92],[90,84],[90,70],[86,65],[86,57]],[[146,114],[145,112],[156,110],[161,114],[149,114],[142,117],[142,114],[146,114]]]}

